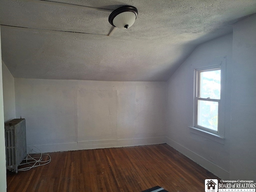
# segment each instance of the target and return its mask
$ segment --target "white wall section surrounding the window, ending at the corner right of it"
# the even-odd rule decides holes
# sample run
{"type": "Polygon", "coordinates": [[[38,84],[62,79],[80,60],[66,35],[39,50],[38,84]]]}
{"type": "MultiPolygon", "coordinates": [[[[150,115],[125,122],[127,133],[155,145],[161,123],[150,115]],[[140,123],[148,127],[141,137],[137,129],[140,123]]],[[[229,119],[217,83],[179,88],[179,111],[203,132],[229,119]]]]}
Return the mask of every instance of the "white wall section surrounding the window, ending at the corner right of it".
{"type": "Polygon", "coordinates": [[[198,46],[168,81],[167,143],[221,178],[229,177],[230,87],[232,34],[198,46]],[[226,62],[226,103],[223,143],[195,134],[193,125],[194,69],[226,62]]]}

